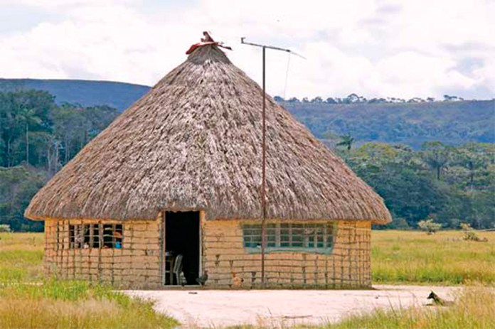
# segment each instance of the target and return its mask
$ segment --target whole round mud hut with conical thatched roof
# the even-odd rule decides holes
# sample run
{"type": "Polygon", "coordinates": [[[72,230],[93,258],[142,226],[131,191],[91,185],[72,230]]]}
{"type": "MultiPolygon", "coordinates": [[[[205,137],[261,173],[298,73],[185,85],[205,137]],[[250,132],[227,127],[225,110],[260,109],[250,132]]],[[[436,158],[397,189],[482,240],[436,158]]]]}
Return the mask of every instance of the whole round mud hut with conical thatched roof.
{"type": "Polygon", "coordinates": [[[218,45],[190,51],[31,200],[47,273],[127,288],[205,271],[208,286],[371,286],[383,200],[267,97],[260,221],[262,90],[218,45]]]}

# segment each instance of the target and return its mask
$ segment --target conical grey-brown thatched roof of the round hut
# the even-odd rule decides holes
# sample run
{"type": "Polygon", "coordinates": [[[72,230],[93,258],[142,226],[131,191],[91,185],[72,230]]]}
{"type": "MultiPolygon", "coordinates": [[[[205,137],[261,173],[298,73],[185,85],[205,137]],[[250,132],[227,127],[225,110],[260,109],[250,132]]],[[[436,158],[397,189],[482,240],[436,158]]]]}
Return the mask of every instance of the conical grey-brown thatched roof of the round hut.
{"type": "MultiPolygon", "coordinates": [[[[215,45],[159,81],[57,173],[26,217],[260,218],[262,90],[215,45]]],[[[383,200],[267,99],[267,217],[390,222],[383,200]]]]}

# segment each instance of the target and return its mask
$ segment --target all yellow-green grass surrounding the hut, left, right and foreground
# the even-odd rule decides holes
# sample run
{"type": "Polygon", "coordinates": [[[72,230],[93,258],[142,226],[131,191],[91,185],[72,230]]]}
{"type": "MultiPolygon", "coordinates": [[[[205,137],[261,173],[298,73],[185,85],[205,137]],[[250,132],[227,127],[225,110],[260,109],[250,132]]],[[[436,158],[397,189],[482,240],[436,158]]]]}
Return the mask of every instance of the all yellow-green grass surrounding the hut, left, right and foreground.
{"type": "MultiPolygon", "coordinates": [[[[373,231],[373,282],[467,285],[450,308],[355,315],[326,328],[495,328],[495,232],[373,231]]],[[[43,281],[43,234],[0,233],[0,328],[174,328],[152,304],[84,282],[43,281]]],[[[243,327],[244,328],[244,327],[243,327]]],[[[246,327],[249,328],[249,327],[246,327]]]]}

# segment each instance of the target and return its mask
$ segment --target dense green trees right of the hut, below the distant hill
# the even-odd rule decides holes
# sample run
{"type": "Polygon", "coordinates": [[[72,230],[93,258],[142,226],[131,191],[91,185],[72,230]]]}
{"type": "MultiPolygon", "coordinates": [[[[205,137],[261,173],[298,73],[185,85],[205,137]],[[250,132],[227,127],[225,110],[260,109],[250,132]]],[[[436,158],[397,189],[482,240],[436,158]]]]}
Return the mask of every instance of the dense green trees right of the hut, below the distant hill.
{"type": "Polygon", "coordinates": [[[388,227],[417,228],[432,218],[448,228],[462,222],[495,228],[495,144],[428,142],[414,151],[368,143],[352,149],[353,139],[343,137],[336,151],[385,200],[393,215],[388,227]]]}

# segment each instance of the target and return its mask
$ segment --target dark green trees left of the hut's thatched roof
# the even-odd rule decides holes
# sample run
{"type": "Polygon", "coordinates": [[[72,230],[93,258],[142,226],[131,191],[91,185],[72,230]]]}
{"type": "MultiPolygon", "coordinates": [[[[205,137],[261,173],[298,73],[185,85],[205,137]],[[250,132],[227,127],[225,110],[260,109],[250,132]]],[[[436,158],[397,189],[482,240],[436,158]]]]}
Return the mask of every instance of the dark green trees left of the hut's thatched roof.
{"type": "Polygon", "coordinates": [[[31,197],[117,117],[107,106],[55,104],[48,92],[0,92],[0,223],[41,230],[23,218],[31,197]]]}

